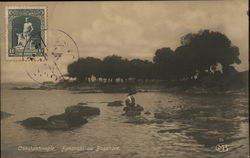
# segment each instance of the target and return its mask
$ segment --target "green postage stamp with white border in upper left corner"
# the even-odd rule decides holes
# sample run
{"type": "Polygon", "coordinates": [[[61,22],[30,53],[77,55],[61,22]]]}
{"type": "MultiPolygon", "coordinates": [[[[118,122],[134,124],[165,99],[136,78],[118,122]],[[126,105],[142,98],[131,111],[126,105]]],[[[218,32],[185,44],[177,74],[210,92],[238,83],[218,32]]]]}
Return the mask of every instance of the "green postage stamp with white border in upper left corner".
{"type": "Polygon", "coordinates": [[[7,60],[43,58],[47,45],[46,6],[6,7],[7,60]]]}

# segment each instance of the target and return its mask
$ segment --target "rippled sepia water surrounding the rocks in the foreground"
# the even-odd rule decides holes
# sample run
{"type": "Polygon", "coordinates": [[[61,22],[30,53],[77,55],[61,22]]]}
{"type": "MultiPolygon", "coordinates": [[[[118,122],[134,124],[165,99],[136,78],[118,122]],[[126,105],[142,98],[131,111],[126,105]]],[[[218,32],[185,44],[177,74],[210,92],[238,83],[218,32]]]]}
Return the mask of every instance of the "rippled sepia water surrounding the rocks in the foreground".
{"type": "Polygon", "coordinates": [[[248,98],[244,95],[183,95],[160,92],[138,93],[136,101],[155,120],[154,112],[166,112],[172,119],[163,123],[131,124],[123,107],[106,103],[124,100],[126,94],[77,94],[64,90],[2,90],[2,111],[14,116],[1,120],[3,158],[247,158],[248,98]],[[27,117],[64,112],[65,107],[90,102],[101,114],[70,131],[26,129],[15,123],[27,117]],[[228,151],[218,152],[219,143],[228,151]],[[18,151],[18,147],[55,147],[53,151],[18,151]],[[64,147],[90,150],[62,151],[64,147]],[[96,147],[106,147],[96,150],[96,147]],[[113,147],[109,148],[108,147],[113,147]],[[95,150],[92,150],[95,149],[95,150]]]}

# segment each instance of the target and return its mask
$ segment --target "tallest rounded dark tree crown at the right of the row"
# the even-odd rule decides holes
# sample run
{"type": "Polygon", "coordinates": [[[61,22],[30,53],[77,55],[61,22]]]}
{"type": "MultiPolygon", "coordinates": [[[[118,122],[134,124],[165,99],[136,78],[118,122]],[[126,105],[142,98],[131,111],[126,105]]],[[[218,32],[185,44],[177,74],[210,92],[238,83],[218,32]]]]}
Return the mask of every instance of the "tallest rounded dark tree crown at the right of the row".
{"type": "Polygon", "coordinates": [[[175,53],[185,57],[183,66],[188,67],[190,77],[213,73],[212,67],[218,64],[222,65],[223,73],[227,73],[230,65],[241,63],[239,48],[220,32],[203,30],[187,34],[181,39],[181,44],[175,53]]]}

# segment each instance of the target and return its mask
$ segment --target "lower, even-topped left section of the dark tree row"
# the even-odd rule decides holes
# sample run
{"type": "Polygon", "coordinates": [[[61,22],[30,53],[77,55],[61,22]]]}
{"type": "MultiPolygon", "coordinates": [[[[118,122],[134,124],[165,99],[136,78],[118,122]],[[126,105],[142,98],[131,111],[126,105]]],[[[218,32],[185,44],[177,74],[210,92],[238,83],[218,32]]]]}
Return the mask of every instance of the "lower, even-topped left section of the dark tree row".
{"type": "Polygon", "coordinates": [[[97,82],[115,83],[117,79],[125,83],[129,78],[136,80],[153,79],[154,65],[148,60],[128,60],[117,55],[107,56],[103,60],[87,57],[80,58],[68,66],[69,77],[78,81],[90,82],[94,76],[97,82]]]}

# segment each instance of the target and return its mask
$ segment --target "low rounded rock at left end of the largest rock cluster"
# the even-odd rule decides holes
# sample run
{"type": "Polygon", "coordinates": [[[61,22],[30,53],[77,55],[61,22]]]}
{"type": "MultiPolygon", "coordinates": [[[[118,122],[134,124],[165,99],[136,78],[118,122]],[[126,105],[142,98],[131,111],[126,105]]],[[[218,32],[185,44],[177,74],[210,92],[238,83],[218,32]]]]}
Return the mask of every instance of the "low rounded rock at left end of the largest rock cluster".
{"type": "Polygon", "coordinates": [[[23,126],[31,128],[43,128],[48,124],[47,120],[44,120],[40,117],[30,117],[21,122],[23,126]]]}

